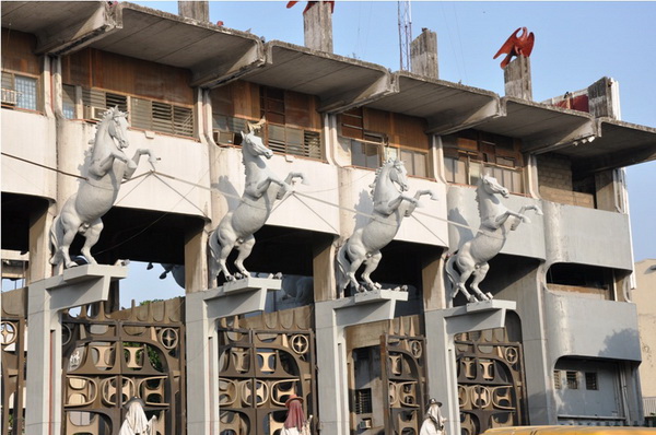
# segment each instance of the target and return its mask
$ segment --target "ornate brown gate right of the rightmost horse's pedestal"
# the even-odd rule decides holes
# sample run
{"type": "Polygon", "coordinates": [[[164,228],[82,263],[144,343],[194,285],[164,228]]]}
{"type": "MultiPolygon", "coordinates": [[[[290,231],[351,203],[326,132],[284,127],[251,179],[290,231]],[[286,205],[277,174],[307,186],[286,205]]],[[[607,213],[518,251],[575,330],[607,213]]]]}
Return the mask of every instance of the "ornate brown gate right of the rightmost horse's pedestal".
{"type": "Polygon", "coordinates": [[[457,334],[455,343],[462,434],[527,424],[522,343],[505,328],[457,334]]]}

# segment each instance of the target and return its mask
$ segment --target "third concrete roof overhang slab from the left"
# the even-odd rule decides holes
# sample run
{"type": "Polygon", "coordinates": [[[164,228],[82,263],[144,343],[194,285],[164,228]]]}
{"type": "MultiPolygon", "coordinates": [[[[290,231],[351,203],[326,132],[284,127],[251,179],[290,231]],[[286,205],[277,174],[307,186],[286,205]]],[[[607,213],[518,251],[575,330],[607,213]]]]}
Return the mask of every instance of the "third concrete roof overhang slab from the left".
{"type": "Polygon", "coordinates": [[[398,92],[389,71],[379,66],[325,51],[271,40],[267,62],[245,80],[317,95],[321,113],[338,114],[398,92]]]}

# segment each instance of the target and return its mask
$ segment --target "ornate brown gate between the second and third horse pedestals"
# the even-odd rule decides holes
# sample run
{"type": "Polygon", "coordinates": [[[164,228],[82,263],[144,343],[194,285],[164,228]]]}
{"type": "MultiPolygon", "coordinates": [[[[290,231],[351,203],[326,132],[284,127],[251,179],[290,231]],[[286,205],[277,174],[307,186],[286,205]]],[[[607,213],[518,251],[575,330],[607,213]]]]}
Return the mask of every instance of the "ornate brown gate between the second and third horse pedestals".
{"type": "Polygon", "coordinates": [[[277,326],[281,329],[218,328],[221,434],[279,434],[292,393],[304,399],[315,426],[314,332],[277,326]]]}

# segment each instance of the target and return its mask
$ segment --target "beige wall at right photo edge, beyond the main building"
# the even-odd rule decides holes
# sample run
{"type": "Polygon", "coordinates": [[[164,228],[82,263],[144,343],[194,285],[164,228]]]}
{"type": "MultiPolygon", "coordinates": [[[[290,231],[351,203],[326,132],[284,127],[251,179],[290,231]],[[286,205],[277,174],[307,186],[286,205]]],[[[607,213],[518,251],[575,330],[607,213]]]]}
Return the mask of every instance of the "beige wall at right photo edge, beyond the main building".
{"type": "Polygon", "coordinates": [[[642,393],[643,397],[656,397],[656,259],[636,262],[635,278],[637,286],[631,296],[637,306],[642,393]]]}

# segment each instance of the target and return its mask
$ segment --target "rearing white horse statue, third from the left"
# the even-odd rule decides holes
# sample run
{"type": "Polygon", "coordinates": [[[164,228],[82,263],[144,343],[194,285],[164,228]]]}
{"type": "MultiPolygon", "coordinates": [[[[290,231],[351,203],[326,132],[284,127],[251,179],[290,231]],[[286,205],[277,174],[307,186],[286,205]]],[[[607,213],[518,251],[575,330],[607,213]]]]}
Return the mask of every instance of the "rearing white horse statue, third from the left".
{"type": "Polygon", "coordinates": [[[391,158],[376,171],[376,178],[370,186],[374,201],[373,216],[365,226],[353,232],[337,255],[338,297],[343,296],[349,284],[358,292],[380,289],[380,284],[370,278],[383,258],[380,249],[394,239],[401,226],[401,220],[412,214],[420,197],[431,195],[431,199],[437,199],[432,190],[418,190],[414,197],[405,195],[408,190],[406,174],[403,162],[391,158]],[[408,204],[405,205],[405,202],[408,204]],[[355,272],[362,263],[365,264],[362,272],[363,285],[355,278],[355,272]]]}

